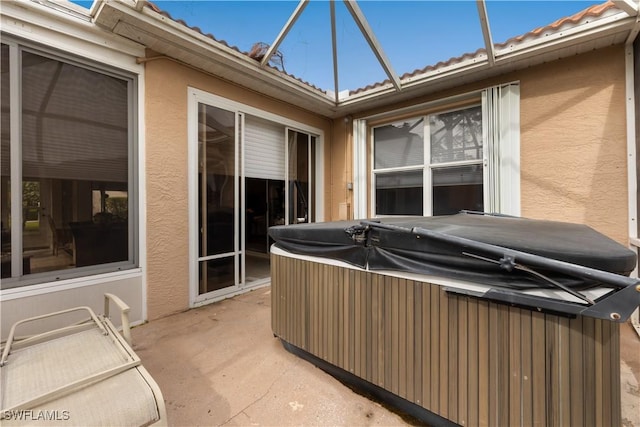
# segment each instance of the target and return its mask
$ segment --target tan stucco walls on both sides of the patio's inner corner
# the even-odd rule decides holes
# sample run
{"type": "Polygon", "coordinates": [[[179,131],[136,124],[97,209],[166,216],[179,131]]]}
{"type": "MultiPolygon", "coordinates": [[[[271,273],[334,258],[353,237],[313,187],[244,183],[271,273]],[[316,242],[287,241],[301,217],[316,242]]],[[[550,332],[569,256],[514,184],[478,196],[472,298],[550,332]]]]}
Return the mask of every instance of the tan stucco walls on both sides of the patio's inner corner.
{"type": "MultiPolygon", "coordinates": [[[[628,241],[624,50],[600,51],[354,114],[442,99],[491,85],[521,85],[522,215],[585,223],[628,241]]],[[[353,215],[352,117],[308,111],[184,67],[146,63],[148,317],[188,307],[187,87],[323,129],[325,220],[353,215]]]]}

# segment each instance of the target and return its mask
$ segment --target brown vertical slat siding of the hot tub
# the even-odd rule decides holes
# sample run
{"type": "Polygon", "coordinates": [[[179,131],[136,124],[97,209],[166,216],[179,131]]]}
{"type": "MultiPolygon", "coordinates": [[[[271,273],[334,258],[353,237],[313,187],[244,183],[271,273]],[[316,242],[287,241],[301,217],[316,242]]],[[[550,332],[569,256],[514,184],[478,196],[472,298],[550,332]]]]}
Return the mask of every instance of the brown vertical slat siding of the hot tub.
{"type": "Polygon", "coordinates": [[[271,255],[281,339],[468,426],[621,425],[617,323],[271,255]]]}

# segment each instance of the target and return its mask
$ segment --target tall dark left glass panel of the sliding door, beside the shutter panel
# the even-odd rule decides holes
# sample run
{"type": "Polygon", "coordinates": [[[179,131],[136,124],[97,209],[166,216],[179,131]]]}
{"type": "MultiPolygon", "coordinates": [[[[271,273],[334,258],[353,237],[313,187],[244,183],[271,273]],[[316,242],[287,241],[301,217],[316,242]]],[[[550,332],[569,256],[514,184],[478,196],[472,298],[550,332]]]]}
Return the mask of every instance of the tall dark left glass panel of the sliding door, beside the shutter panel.
{"type": "Polygon", "coordinates": [[[198,104],[198,295],[238,285],[235,118],[198,104]]]}

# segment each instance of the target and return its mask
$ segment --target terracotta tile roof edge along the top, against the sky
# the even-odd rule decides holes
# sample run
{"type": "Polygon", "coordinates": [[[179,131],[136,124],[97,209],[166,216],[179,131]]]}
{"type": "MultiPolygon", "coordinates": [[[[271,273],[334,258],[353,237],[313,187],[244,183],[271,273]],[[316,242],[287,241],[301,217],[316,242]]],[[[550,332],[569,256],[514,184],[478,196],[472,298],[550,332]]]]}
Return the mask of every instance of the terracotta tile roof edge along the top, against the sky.
{"type": "MultiPolygon", "coordinates": [[[[255,50],[252,50],[251,52],[242,52],[238,47],[230,45],[229,43],[227,43],[225,40],[218,40],[216,39],[212,34],[209,33],[204,33],[199,27],[192,27],[189,26],[184,20],[182,19],[175,19],[173,18],[168,12],[163,11],[161,8],[159,8],[155,3],[152,3],[151,1],[146,1],[145,4],[146,7],[150,8],[151,10],[153,10],[154,12],[157,12],[169,19],[171,19],[174,22],[177,22],[179,24],[184,25],[185,27],[198,32],[199,34],[204,35],[205,37],[210,38],[211,40],[215,41],[216,43],[220,43],[221,45],[235,50],[236,52],[239,52],[243,55],[248,56],[249,58],[253,58],[256,59],[256,61],[260,61],[261,57],[259,55],[256,56],[255,54],[255,50]]],[[[532,41],[532,40],[536,40],[540,37],[544,37],[547,36],[549,34],[553,34],[553,33],[557,33],[559,31],[562,31],[563,29],[567,28],[567,27],[573,27],[579,24],[584,24],[584,23],[588,23],[590,22],[591,19],[593,18],[600,18],[602,17],[606,12],[608,12],[609,10],[616,10],[618,11],[619,9],[616,7],[615,3],[612,0],[607,0],[605,3],[602,4],[597,4],[597,5],[593,5],[588,7],[587,9],[578,12],[574,15],[568,16],[568,17],[564,17],[561,19],[558,19],[557,21],[549,24],[549,25],[545,25],[543,27],[539,27],[536,28],[532,31],[529,31],[525,34],[519,35],[519,36],[515,36],[512,37],[510,39],[508,39],[507,41],[503,42],[503,43],[494,43],[494,48],[496,51],[499,51],[501,49],[507,49],[509,47],[512,47],[514,45],[518,45],[518,44],[522,44],[525,43],[527,41],[532,41]]],[[[476,50],[473,53],[465,53],[463,55],[460,56],[456,56],[456,57],[452,57],[446,61],[440,61],[435,65],[427,65],[424,68],[421,69],[416,69],[412,72],[408,72],[408,73],[404,73],[402,76],[400,76],[400,80],[406,80],[409,78],[413,78],[422,74],[426,74],[435,70],[439,70],[442,68],[446,68],[446,67],[450,67],[452,65],[461,63],[461,62],[466,62],[469,60],[473,60],[479,57],[483,57],[487,55],[487,51],[485,48],[480,48],[478,50],[476,50]]],[[[312,87],[313,89],[316,89],[318,91],[327,93],[326,90],[324,89],[320,89],[317,86],[304,81],[292,74],[287,73],[284,69],[279,69],[277,67],[274,67],[272,65],[268,65],[270,68],[277,70],[285,75],[287,75],[290,78],[293,78],[309,87],[312,87]]],[[[391,84],[391,80],[386,79],[382,82],[377,82],[377,83],[373,83],[371,85],[367,85],[365,87],[362,88],[358,88],[358,89],[353,89],[351,91],[349,91],[349,95],[354,95],[354,94],[358,94],[358,93],[363,93],[363,92],[367,92],[369,90],[375,89],[375,88],[379,88],[379,87],[383,87],[386,85],[391,84]]]]}

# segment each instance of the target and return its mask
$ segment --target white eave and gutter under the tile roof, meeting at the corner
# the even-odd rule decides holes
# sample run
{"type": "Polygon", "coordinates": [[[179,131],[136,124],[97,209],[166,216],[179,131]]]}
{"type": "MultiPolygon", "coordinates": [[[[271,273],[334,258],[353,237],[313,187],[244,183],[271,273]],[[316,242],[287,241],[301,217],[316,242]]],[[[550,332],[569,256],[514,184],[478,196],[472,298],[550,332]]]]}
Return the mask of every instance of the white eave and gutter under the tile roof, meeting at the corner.
{"type": "Polygon", "coordinates": [[[484,52],[476,53],[450,65],[439,64],[425,72],[405,76],[399,90],[386,82],[355,91],[336,102],[331,95],[276,69],[261,66],[247,55],[163,14],[147,7],[136,10],[128,0],[103,2],[95,14],[95,22],[185,64],[330,118],[357,114],[460,84],[623,44],[637,28],[637,16],[618,10],[548,34],[530,36],[528,40],[496,45],[493,61],[484,52]]]}

